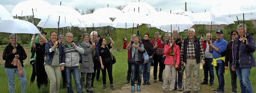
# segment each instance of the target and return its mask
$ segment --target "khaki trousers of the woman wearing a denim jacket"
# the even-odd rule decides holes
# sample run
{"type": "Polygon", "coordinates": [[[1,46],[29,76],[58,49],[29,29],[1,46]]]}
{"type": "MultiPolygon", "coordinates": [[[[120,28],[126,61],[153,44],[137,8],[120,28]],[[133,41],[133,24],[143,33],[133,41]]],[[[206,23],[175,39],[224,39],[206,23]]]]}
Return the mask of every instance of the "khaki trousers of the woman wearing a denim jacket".
{"type": "Polygon", "coordinates": [[[50,79],[50,93],[58,93],[60,90],[60,66],[44,65],[45,71],[50,79]]]}

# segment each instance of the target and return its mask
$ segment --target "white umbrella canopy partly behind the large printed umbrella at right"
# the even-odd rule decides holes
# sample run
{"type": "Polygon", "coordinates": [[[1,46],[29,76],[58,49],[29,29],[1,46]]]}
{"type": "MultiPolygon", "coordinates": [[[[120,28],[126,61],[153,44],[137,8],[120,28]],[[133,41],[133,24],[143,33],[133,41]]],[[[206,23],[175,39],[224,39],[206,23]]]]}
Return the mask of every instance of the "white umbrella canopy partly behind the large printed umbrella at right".
{"type": "Polygon", "coordinates": [[[234,21],[230,18],[215,18],[214,15],[211,15],[211,12],[195,13],[193,23],[207,25],[235,24],[234,21]]]}

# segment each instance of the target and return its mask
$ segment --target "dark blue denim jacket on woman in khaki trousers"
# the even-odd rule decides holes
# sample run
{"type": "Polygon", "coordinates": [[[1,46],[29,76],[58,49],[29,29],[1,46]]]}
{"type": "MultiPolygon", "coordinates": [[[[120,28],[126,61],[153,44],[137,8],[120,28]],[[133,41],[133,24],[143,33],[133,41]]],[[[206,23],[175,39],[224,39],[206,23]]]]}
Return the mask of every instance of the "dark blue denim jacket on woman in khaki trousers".
{"type": "MultiPolygon", "coordinates": [[[[45,44],[45,50],[46,50],[46,60],[44,61],[45,63],[48,64],[52,64],[52,59],[54,56],[54,48],[53,48],[54,44],[52,41],[50,41],[49,43],[45,44]],[[51,44],[51,45],[49,45],[51,44]]],[[[59,65],[65,65],[65,52],[64,49],[62,47],[62,45],[59,45],[58,47],[56,47],[59,51],[59,65]]]]}

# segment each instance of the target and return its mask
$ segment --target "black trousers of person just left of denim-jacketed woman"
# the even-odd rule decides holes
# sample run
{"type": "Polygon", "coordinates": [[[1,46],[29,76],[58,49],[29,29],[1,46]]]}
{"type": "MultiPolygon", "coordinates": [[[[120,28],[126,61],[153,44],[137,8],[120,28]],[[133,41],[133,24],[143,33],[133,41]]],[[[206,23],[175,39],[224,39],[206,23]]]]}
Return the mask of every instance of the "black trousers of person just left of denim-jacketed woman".
{"type": "Polygon", "coordinates": [[[35,71],[36,71],[36,82],[37,87],[40,89],[42,85],[45,85],[47,87],[48,84],[48,76],[46,74],[46,71],[44,69],[44,64],[35,63],[35,71]]]}

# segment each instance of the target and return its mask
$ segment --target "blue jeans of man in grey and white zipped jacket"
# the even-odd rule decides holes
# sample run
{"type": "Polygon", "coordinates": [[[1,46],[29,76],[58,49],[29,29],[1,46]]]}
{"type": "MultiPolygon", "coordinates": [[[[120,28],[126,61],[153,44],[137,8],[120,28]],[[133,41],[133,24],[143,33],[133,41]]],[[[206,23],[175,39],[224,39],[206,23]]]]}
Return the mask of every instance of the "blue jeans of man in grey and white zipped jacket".
{"type": "Polygon", "coordinates": [[[82,87],[80,84],[80,72],[78,67],[65,67],[66,70],[66,77],[67,77],[67,87],[68,87],[68,93],[74,93],[72,89],[72,75],[74,77],[74,81],[76,84],[76,91],[77,93],[82,93],[82,87]]]}

